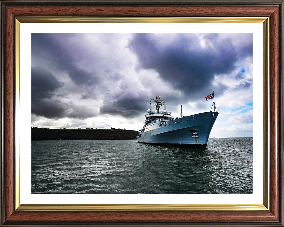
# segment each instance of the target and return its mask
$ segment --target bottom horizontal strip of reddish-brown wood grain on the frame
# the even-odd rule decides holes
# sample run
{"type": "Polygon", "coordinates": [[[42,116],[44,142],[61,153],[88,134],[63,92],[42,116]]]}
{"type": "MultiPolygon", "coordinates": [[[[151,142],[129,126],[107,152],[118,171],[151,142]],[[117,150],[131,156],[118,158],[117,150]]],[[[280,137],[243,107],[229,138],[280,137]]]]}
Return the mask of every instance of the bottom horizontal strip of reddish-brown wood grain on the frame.
{"type": "Polygon", "coordinates": [[[59,223],[74,222],[250,222],[250,221],[277,221],[269,211],[234,212],[234,211],[60,211],[60,212],[14,212],[7,223],[17,221],[29,221],[32,223],[59,223]],[[72,215],[70,215],[70,213],[72,215]],[[33,217],[31,219],[31,217],[33,217]]]}

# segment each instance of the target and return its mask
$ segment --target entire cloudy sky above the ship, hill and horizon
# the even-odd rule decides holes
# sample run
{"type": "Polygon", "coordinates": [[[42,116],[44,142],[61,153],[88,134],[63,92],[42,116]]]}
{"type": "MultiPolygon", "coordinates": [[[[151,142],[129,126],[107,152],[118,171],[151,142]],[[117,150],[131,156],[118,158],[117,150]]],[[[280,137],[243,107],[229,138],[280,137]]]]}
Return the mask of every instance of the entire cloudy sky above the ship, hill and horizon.
{"type": "Polygon", "coordinates": [[[32,127],[140,130],[156,95],[252,137],[252,33],[32,33],[32,127]]]}

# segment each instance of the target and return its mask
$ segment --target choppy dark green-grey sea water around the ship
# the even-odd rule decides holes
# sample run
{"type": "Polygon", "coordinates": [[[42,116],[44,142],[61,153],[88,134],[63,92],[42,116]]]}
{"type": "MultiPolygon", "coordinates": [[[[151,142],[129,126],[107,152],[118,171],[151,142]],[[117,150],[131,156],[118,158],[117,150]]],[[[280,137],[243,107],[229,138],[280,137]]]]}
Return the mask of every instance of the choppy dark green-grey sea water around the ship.
{"type": "Polygon", "coordinates": [[[32,193],[252,193],[252,138],[206,150],[137,140],[32,141],[32,193]]]}

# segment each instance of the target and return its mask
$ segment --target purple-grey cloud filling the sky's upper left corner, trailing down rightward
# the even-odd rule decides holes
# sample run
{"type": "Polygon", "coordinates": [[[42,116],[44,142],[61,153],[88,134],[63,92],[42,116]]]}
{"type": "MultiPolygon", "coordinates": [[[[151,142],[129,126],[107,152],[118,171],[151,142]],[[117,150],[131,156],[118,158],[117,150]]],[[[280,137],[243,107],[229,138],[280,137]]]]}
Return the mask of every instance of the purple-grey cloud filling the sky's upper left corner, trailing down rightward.
{"type": "Polygon", "coordinates": [[[50,69],[66,71],[71,80],[78,85],[94,84],[99,82],[96,72],[88,72],[78,67],[83,58],[83,50],[79,45],[72,45],[70,40],[80,35],[76,33],[32,33],[32,62],[49,64],[50,69]]]}

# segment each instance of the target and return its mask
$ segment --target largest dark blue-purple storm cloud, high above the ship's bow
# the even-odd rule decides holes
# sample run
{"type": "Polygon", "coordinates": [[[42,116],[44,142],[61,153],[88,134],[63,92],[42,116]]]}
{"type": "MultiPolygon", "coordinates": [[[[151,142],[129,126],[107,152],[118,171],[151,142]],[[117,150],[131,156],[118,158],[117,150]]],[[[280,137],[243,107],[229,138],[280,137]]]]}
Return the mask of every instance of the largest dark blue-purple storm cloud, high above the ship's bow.
{"type": "Polygon", "coordinates": [[[237,52],[230,39],[217,33],[205,34],[203,39],[206,48],[196,34],[176,34],[174,41],[161,45],[164,41],[159,37],[137,33],[129,47],[137,55],[140,67],[156,70],[162,80],[185,94],[194,97],[212,89],[220,94],[226,85],[220,82],[213,87],[214,76],[235,68],[237,52]]]}

